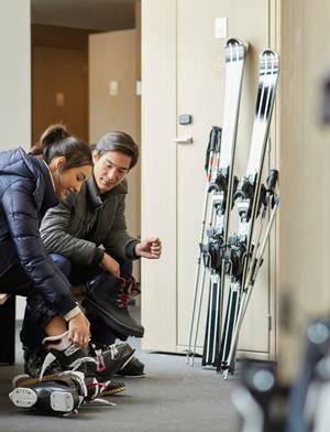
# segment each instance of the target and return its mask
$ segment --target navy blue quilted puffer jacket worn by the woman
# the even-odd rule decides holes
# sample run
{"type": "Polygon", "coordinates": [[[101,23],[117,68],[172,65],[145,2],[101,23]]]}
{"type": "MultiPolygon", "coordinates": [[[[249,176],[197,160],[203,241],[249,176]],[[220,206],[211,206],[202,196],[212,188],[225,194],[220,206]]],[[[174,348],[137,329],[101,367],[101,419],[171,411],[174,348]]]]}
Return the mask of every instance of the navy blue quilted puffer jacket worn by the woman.
{"type": "Polygon", "coordinates": [[[63,316],[77,303],[38,231],[44,213],[56,204],[51,174],[42,160],[23,149],[0,152],[0,292],[1,274],[20,261],[33,287],[63,316]]]}

